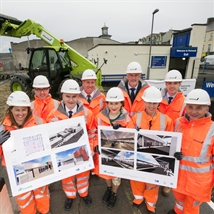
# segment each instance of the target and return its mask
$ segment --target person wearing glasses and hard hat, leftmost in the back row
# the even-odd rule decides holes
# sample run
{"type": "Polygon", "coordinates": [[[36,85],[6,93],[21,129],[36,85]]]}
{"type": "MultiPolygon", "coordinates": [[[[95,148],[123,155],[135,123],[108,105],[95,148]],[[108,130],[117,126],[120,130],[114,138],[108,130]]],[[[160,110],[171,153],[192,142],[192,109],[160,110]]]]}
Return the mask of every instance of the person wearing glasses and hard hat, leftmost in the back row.
{"type": "Polygon", "coordinates": [[[50,84],[47,77],[43,75],[36,76],[33,80],[34,101],[31,103],[31,109],[35,116],[41,117],[46,121],[48,114],[52,109],[56,109],[59,101],[52,98],[50,84]]]}

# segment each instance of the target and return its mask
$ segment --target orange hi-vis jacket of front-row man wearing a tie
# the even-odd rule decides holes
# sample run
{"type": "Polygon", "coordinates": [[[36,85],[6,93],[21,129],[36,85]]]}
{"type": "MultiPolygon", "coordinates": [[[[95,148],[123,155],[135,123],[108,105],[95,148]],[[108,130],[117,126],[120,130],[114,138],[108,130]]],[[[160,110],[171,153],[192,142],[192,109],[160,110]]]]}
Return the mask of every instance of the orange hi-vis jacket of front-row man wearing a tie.
{"type": "MultiPolygon", "coordinates": [[[[95,121],[94,121],[94,115],[93,113],[83,106],[83,103],[81,101],[77,101],[77,112],[73,114],[72,118],[74,117],[79,117],[79,116],[84,116],[85,121],[86,121],[86,129],[88,131],[88,138],[90,142],[90,148],[93,151],[94,147],[97,145],[97,139],[96,139],[96,126],[95,126],[95,121]]],[[[68,115],[64,109],[64,103],[61,101],[60,105],[56,110],[52,110],[50,114],[47,117],[47,122],[51,121],[57,121],[57,120],[65,120],[69,119],[68,115]]]]}

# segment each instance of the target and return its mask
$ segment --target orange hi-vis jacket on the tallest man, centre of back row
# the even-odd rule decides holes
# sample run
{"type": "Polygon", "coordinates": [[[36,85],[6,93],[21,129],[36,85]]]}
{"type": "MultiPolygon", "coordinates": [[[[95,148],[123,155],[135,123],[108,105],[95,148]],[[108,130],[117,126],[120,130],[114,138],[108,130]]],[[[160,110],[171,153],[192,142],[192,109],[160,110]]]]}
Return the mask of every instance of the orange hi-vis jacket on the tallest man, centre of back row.
{"type": "Polygon", "coordinates": [[[131,99],[129,97],[129,92],[127,91],[127,88],[125,86],[125,84],[127,84],[127,82],[128,82],[127,78],[124,77],[120,81],[118,87],[123,91],[123,95],[124,95],[124,98],[125,98],[125,100],[124,100],[125,101],[124,102],[124,108],[129,113],[129,116],[132,117],[135,113],[145,110],[144,101],[142,99],[142,95],[143,95],[143,92],[145,91],[145,89],[147,89],[149,87],[149,85],[145,81],[140,80],[139,84],[141,84],[141,89],[137,93],[137,95],[135,97],[135,100],[132,103],[131,99]]]}

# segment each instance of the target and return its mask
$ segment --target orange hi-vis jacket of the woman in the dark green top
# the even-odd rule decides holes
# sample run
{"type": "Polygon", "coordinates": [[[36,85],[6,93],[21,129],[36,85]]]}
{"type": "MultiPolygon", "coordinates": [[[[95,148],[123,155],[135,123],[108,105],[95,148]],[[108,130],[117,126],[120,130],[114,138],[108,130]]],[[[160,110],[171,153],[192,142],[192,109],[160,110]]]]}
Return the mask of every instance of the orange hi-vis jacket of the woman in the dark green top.
{"type": "MultiPolygon", "coordinates": [[[[121,110],[122,114],[121,116],[115,120],[113,122],[113,124],[120,124],[123,128],[125,128],[128,124],[128,122],[132,122],[127,111],[122,108],[121,110]]],[[[109,108],[105,107],[95,118],[95,123],[96,126],[98,127],[98,125],[100,126],[112,126],[110,120],[109,120],[109,108]]],[[[94,173],[99,175],[99,177],[104,178],[104,179],[112,179],[114,177],[112,176],[108,176],[108,175],[103,175],[99,173],[99,156],[97,154],[95,154],[94,156],[94,165],[95,165],[95,169],[94,169],[94,173]]]]}

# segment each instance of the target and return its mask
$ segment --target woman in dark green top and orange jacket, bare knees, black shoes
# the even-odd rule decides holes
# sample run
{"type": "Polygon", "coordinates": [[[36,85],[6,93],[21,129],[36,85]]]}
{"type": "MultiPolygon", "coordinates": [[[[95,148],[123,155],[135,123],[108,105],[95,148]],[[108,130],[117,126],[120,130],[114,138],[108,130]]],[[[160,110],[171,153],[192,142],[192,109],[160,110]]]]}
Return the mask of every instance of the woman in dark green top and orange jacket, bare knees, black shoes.
{"type": "MultiPolygon", "coordinates": [[[[126,127],[130,121],[127,111],[123,108],[124,96],[118,87],[111,88],[106,94],[106,107],[97,115],[95,121],[98,125],[112,126],[114,129],[126,127]]],[[[116,145],[112,143],[112,148],[116,145]]],[[[117,190],[121,183],[121,178],[115,178],[99,173],[99,162],[95,160],[94,172],[106,180],[107,190],[105,191],[102,202],[107,203],[109,209],[113,209],[116,204],[117,190]]]]}

